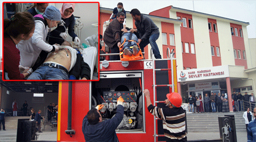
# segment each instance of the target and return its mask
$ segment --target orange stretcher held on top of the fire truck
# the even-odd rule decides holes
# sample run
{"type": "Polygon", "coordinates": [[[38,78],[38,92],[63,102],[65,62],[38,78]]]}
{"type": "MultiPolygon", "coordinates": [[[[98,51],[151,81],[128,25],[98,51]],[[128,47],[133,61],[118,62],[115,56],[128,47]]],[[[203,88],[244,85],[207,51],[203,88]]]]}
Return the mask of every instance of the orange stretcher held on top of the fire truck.
{"type": "MultiPolygon", "coordinates": [[[[125,39],[126,41],[126,39],[125,39]]],[[[123,47],[123,44],[125,44],[125,41],[123,41],[123,43],[120,45],[119,47],[119,52],[120,52],[120,60],[121,61],[135,61],[135,60],[142,60],[144,57],[143,57],[143,54],[141,52],[141,48],[139,47],[139,44],[137,44],[137,47],[139,48],[139,52],[137,53],[137,55],[125,55],[125,53],[123,53],[123,50],[125,49],[125,47],[123,47]]],[[[134,40],[128,40],[129,42],[133,42],[134,40]]]]}

